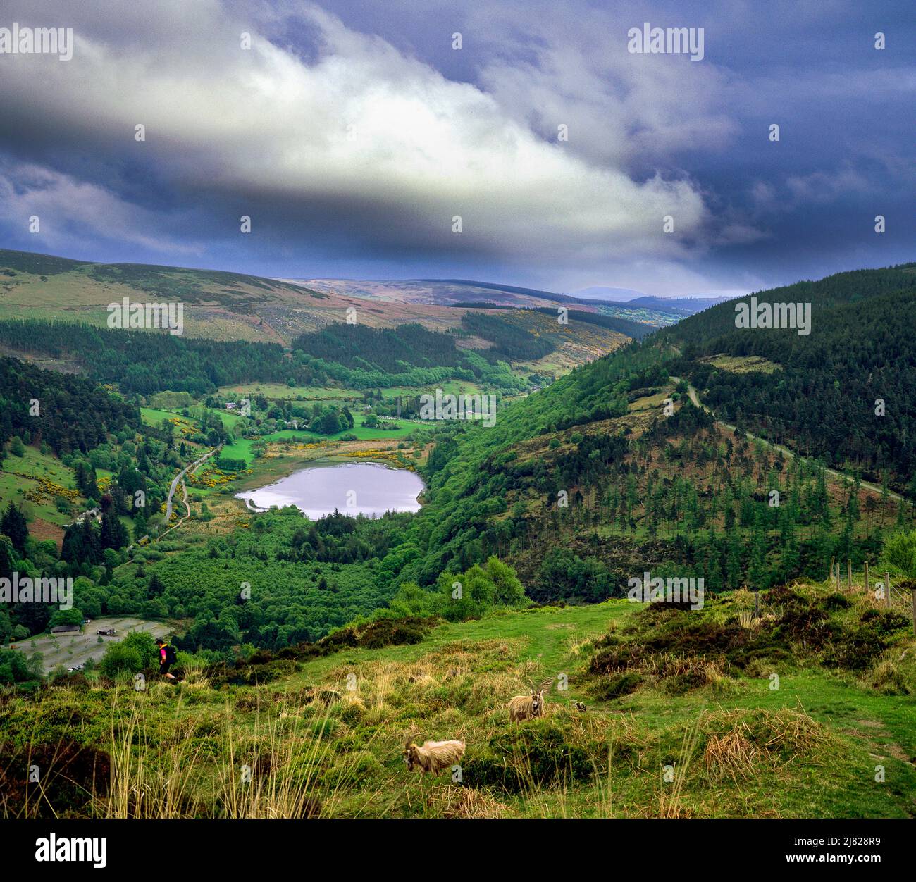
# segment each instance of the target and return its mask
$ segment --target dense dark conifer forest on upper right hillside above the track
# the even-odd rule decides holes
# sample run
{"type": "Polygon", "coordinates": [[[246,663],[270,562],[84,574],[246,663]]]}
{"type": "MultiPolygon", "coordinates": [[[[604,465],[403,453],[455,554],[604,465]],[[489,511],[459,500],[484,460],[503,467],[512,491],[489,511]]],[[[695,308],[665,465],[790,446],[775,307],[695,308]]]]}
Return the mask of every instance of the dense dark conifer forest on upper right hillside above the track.
{"type": "Polygon", "coordinates": [[[810,334],[736,329],[736,302],[704,310],[653,338],[721,419],[797,452],[886,476],[916,498],[916,265],[838,273],[755,295],[760,303],[811,304],[810,334]],[[708,358],[760,357],[776,372],[720,370],[708,358]]]}

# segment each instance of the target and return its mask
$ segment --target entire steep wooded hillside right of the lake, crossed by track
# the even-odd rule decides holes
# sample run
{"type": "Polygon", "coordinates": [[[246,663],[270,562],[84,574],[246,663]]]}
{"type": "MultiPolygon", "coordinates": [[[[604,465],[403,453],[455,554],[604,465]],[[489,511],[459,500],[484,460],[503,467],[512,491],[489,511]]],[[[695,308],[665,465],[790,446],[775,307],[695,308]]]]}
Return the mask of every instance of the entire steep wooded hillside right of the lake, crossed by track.
{"type": "Polygon", "coordinates": [[[426,584],[496,553],[545,583],[539,599],[594,600],[639,561],[729,588],[874,561],[885,532],[911,523],[897,493],[916,498],[916,274],[758,297],[810,300],[812,333],[737,331],[724,303],[511,404],[492,429],[444,430],[427,505],[385,571],[426,584]]]}

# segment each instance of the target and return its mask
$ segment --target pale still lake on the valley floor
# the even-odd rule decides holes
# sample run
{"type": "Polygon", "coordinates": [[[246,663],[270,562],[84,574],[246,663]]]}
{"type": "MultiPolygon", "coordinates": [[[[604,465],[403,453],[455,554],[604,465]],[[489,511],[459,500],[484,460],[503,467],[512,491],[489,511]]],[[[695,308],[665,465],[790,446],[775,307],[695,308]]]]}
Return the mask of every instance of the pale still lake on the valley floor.
{"type": "MultiPolygon", "coordinates": [[[[296,506],[317,520],[336,508],[342,515],[380,517],[387,511],[420,511],[420,476],[381,463],[316,463],[275,484],[236,493],[259,509],[296,506]]],[[[249,505],[247,502],[246,505],[249,505]]]]}

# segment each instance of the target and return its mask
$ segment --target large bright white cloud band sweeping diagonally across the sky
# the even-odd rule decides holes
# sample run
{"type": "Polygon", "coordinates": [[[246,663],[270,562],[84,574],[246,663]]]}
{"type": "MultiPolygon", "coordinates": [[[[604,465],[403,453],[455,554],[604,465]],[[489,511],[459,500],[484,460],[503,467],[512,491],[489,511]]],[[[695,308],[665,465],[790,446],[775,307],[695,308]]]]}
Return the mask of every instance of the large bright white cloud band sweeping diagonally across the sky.
{"type": "MultiPolygon", "coordinates": [[[[591,108],[569,105],[575,125],[594,110],[616,133],[605,151],[577,152],[546,142],[517,112],[528,80],[532,98],[540,95],[550,107],[568,99],[580,73],[596,82],[604,72],[568,71],[560,92],[551,93],[547,82],[551,71],[562,70],[559,55],[515,76],[495,65],[485,91],[450,82],[314,5],[281,9],[297,10],[315,35],[308,61],[270,42],[251,17],[214,0],[142,6],[107,0],[68,8],[74,59],[5,59],[0,103],[54,120],[103,155],[154,159],[177,191],[234,198],[235,214],[258,198],[289,212],[321,207],[330,228],[353,224],[364,239],[375,235],[390,245],[539,262],[677,257],[686,253],[682,237],[701,235],[708,222],[689,180],[658,174],[635,180],[627,171],[640,138],[683,143],[707,125],[677,123],[678,98],[659,106],[655,76],[641,82],[635,74],[622,101],[600,94],[591,108]],[[245,30],[254,38],[250,51],[239,47],[245,30]],[[608,117],[609,108],[621,118],[608,117]],[[146,143],[134,142],[136,123],[146,125],[146,143]],[[644,126],[641,135],[627,131],[634,125],[644,126]],[[451,232],[456,214],[463,218],[460,237],[451,232]],[[668,214],[675,234],[661,232],[668,214]]],[[[261,27],[269,28],[270,15],[262,13],[261,27]]],[[[666,74],[662,85],[673,86],[675,76],[666,74]]],[[[711,118],[713,128],[725,127],[711,118]]],[[[62,196],[63,186],[50,189],[62,196]]],[[[99,192],[93,196],[100,204],[99,192]]],[[[108,208],[114,218],[131,214],[128,230],[150,220],[156,238],[151,216],[126,203],[108,208]]]]}

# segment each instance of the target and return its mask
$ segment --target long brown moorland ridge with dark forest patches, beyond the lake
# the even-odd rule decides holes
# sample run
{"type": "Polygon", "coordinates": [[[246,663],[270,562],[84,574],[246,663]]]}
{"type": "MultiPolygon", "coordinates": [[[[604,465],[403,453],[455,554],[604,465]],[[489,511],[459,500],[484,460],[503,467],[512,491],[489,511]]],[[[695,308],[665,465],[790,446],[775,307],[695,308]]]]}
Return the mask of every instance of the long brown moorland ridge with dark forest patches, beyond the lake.
{"type": "MultiPolygon", "coordinates": [[[[466,294],[472,289],[460,290],[466,294]]],[[[129,373],[134,390],[199,392],[209,390],[217,375],[227,382],[245,378],[285,381],[294,372],[299,380],[314,376],[302,365],[295,371],[290,366],[287,371],[277,362],[282,357],[280,346],[287,352],[295,349],[297,342],[315,342],[318,346],[322,332],[345,329],[345,322],[354,314],[361,329],[414,334],[409,337],[412,343],[428,340],[434,333],[432,339],[442,344],[428,347],[430,357],[415,364],[410,356],[416,354],[417,347],[408,345],[405,364],[427,371],[448,367],[452,372],[470,372],[468,376],[474,369],[478,372],[474,376],[483,376],[487,362],[502,358],[524,363],[521,370],[531,375],[552,377],[613,351],[627,338],[638,339],[652,330],[646,323],[594,310],[570,309],[568,321],[560,323],[555,304],[544,315],[540,310],[550,301],[521,295],[520,302],[507,304],[512,309],[500,310],[497,317],[496,310],[482,311],[489,305],[486,303],[476,309],[455,309],[449,302],[429,303],[411,297],[409,292],[404,296],[398,289],[387,299],[370,299],[371,292],[358,293],[350,294],[337,286],[319,290],[224,270],[95,264],[0,250],[0,346],[16,357],[50,357],[74,370],[86,370],[103,382],[117,382],[121,374],[129,373]],[[121,332],[107,328],[110,305],[120,305],[124,300],[180,306],[183,333],[163,342],[154,329],[136,328],[137,339],[149,338],[144,340],[144,354],[151,360],[144,362],[136,354],[124,352],[119,348],[125,345],[121,332]],[[524,309],[517,309],[519,306],[524,309]],[[436,358],[444,358],[456,340],[462,350],[461,364],[437,364],[436,358]],[[261,351],[237,345],[243,342],[274,346],[261,351]],[[221,343],[223,348],[210,343],[221,343]],[[236,356],[243,349],[245,357],[240,363],[236,356]],[[172,355],[182,361],[178,374],[174,373],[178,365],[166,367],[172,355]],[[273,364],[268,365],[271,360],[273,364]]],[[[516,296],[507,293],[507,297],[516,296]]],[[[375,372],[372,382],[376,386],[385,376],[393,376],[373,364],[379,339],[371,334],[365,338],[367,351],[359,367],[370,374],[375,372]]],[[[322,349],[332,362],[333,352],[333,345],[322,349]]],[[[362,375],[359,379],[369,382],[362,375]]],[[[521,382],[518,376],[509,385],[514,387],[517,381],[521,382]]]]}

